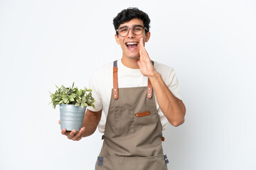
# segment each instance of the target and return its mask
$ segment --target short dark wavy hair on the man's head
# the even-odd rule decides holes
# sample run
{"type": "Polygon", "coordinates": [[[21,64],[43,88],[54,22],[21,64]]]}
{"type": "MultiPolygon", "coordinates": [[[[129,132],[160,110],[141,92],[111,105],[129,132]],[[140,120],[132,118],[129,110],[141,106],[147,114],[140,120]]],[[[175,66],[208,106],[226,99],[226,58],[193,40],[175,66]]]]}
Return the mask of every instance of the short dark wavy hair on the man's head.
{"type": "MultiPolygon", "coordinates": [[[[113,20],[114,30],[117,30],[122,23],[131,21],[133,18],[139,18],[143,21],[145,33],[149,32],[149,16],[138,8],[127,8],[119,12],[113,20]]],[[[117,33],[118,35],[118,33],[117,33]]]]}

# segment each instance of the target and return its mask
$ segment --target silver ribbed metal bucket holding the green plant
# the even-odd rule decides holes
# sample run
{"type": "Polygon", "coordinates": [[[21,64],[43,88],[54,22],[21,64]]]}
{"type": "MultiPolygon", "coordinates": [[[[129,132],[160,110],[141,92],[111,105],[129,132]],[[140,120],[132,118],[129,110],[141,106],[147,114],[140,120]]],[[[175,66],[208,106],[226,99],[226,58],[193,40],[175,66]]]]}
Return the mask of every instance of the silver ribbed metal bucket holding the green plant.
{"type": "Polygon", "coordinates": [[[60,104],[60,129],[79,131],[85,117],[86,107],[60,104]]]}

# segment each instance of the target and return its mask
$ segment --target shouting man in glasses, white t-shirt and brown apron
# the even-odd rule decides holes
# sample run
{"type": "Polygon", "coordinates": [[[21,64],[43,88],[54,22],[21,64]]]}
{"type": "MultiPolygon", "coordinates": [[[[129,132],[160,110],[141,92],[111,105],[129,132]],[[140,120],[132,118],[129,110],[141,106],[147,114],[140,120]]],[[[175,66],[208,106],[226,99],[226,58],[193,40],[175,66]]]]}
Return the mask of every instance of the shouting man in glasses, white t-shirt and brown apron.
{"type": "Polygon", "coordinates": [[[162,130],[168,122],[181,125],[186,113],[176,74],[171,67],[152,62],[146,52],[146,13],[127,8],[113,23],[122,59],[95,71],[90,80],[95,108],[87,108],[80,132],[63,129],[62,134],[80,140],[99,127],[104,143],[95,169],[167,169],[162,130]]]}

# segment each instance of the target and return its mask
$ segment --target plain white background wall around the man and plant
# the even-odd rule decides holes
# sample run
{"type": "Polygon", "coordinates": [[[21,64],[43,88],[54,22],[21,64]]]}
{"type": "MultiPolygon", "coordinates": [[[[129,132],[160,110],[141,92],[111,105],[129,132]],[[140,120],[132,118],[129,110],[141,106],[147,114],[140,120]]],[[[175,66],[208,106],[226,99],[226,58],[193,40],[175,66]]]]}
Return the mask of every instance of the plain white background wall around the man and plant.
{"type": "Polygon", "coordinates": [[[129,6],[149,14],[146,50],[174,67],[187,109],[164,131],[169,169],[256,169],[255,1],[0,0],[1,170],[94,169],[102,134],[61,135],[48,91],[122,57],[112,19],[129,6]]]}

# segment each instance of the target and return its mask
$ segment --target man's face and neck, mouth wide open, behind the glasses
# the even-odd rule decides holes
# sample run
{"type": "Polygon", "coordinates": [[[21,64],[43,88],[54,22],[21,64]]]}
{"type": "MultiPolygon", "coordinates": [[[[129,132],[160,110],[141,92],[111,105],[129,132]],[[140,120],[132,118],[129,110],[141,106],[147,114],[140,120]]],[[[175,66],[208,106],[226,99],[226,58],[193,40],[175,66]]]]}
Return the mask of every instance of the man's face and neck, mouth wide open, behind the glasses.
{"type": "MultiPolygon", "coordinates": [[[[136,25],[144,26],[141,19],[134,18],[131,21],[121,24],[119,28],[124,26],[132,28],[136,25]]],[[[143,38],[143,44],[145,45],[145,42],[150,38],[150,33],[145,33],[145,30],[143,30],[141,35],[135,35],[132,33],[132,29],[129,29],[129,33],[125,37],[115,35],[115,38],[117,40],[117,44],[121,45],[123,51],[122,57],[139,60],[139,40],[140,38],[143,38]]]]}

